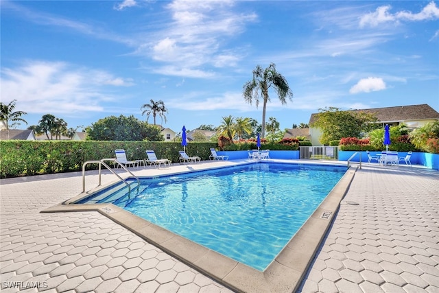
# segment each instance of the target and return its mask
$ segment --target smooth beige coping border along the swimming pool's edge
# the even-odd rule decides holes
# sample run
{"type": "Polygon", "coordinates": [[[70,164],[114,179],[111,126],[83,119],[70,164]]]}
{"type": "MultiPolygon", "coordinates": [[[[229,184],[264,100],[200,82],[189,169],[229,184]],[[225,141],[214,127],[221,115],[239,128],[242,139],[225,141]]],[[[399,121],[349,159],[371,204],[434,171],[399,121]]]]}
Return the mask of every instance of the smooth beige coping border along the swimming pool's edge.
{"type": "MultiPolygon", "coordinates": [[[[351,185],[356,170],[357,166],[351,166],[346,171],[346,174],[335,185],[318,209],[263,272],[196,244],[185,237],[171,233],[114,204],[83,204],[82,206],[57,204],[41,212],[98,211],[143,237],[147,242],[161,248],[169,255],[236,292],[294,292],[305,277],[307,269],[333,221],[333,215],[339,209],[340,202],[351,185]],[[330,216],[322,217],[323,213],[330,214],[330,216]]],[[[89,193],[80,194],[75,198],[88,195],[89,193]]]]}

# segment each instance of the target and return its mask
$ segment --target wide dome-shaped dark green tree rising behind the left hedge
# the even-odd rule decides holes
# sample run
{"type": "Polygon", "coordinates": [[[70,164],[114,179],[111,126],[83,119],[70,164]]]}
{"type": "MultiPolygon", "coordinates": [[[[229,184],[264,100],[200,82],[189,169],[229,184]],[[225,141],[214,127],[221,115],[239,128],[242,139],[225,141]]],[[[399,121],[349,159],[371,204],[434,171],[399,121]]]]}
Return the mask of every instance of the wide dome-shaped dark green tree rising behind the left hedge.
{"type": "Polygon", "coordinates": [[[93,141],[164,141],[158,126],[140,121],[133,115],[109,116],[99,119],[87,130],[87,139],[93,141]]]}

